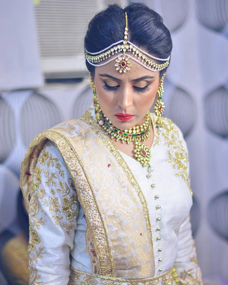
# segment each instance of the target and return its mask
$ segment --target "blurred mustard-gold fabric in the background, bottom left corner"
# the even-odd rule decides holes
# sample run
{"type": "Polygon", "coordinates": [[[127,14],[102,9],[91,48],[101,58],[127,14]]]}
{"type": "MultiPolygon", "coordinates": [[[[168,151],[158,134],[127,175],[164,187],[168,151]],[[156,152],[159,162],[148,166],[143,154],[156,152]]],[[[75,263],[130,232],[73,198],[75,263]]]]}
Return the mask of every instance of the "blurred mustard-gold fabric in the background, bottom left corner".
{"type": "Polygon", "coordinates": [[[9,284],[29,284],[28,244],[20,238],[11,238],[1,253],[2,272],[9,284]]]}

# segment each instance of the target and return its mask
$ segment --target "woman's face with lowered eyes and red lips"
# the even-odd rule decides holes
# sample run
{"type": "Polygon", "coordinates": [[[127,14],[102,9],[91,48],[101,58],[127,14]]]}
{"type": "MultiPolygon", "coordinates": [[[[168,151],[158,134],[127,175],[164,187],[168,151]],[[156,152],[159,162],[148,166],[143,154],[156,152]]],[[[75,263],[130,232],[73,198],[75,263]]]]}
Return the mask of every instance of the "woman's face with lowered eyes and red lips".
{"type": "Polygon", "coordinates": [[[94,84],[103,113],[121,130],[143,124],[159,87],[159,72],[132,60],[126,73],[119,73],[115,60],[95,67],[94,84]],[[130,114],[132,116],[121,116],[130,114]]]}

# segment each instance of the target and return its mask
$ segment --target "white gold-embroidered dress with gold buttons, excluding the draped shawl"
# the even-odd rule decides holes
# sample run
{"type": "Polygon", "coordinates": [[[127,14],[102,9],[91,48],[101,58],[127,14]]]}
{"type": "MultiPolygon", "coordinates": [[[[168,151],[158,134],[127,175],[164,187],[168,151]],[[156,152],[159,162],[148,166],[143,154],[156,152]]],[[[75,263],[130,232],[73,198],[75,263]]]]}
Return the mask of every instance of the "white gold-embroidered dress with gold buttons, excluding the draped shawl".
{"type": "MultiPolygon", "coordinates": [[[[181,130],[176,125],[174,128],[178,131],[179,145],[187,150],[181,130]]],[[[187,185],[189,180],[181,178],[181,172],[177,174],[180,163],[178,155],[183,154],[178,148],[175,150],[177,153],[167,151],[169,144],[172,142],[155,130],[150,169],[142,167],[121,151],[120,154],[147,200],[153,235],[155,276],[175,266],[183,284],[202,284],[191,232],[189,211],[192,197],[190,186],[187,185]]],[[[188,153],[185,159],[188,165],[186,171],[189,173],[188,153]]],[[[70,265],[92,273],[86,251],[85,215],[78,203],[69,170],[56,145],[50,140],[39,154],[33,184],[40,208],[34,213],[32,204],[37,201],[33,201],[31,196],[30,284],[66,285],[70,265]]],[[[96,252],[93,254],[96,255],[96,252]]]]}

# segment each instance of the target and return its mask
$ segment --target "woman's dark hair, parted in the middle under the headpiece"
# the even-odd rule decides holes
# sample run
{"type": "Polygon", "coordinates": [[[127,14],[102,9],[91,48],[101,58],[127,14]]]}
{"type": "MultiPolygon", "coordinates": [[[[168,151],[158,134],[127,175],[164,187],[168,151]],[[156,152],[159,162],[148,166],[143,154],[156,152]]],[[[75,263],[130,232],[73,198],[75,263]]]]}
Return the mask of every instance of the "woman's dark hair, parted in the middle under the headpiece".
{"type": "MultiPolygon", "coordinates": [[[[85,35],[84,47],[91,53],[98,52],[123,39],[128,15],[129,41],[158,58],[167,58],[172,51],[170,31],[163,24],[162,16],[143,3],[132,3],[124,9],[118,4],[108,5],[92,18],[85,35]]],[[[157,61],[164,63],[164,61],[157,61]]],[[[86,61],[94,77],[95,67],[86,61]]],[[[160,71],[160,77],[167,67],[160,71]]]]}

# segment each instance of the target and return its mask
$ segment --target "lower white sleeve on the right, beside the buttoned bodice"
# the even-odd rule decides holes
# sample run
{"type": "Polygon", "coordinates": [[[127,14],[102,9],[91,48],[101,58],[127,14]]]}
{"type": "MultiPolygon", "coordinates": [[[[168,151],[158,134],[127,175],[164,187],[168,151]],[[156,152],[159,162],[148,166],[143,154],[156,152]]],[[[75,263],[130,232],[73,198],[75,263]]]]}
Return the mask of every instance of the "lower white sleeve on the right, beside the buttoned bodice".
{"type": "MultiPolygon", "coordinates": [[[[198,265],[190,214],[183,221],[178,235],[178,255],[174,263],[180,284],[202,285],[202,273],[198,265]]],[[[178,282],[177,282],[178,283],[178,282]]]]}

